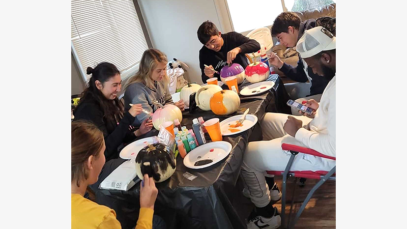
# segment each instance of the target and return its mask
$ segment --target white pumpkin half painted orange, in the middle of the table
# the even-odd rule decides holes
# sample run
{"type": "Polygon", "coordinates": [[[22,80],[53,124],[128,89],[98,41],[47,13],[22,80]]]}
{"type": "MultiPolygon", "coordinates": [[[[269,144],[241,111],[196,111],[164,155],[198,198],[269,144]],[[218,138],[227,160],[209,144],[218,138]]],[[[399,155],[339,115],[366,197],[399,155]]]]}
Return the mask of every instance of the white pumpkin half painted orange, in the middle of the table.
{"type": "Polygon", "coordinates": [[[218,116],[234,113],[240,106],[238,94],[230,90],[222,90],[215,93],[210,101],[211,110],[218,116]]]}

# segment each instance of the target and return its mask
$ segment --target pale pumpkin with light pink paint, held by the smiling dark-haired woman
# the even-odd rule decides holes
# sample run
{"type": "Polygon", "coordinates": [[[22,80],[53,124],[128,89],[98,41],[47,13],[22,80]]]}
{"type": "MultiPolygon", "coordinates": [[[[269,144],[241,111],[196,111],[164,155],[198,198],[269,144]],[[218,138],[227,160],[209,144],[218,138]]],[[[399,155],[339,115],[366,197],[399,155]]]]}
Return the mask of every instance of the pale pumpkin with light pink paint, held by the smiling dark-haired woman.
{"type": "Polygon", "coordinates": [[[178,106],[173,104],[166,104],[163,106],[156,100],[153,100],[153,104],[160,107],[154,112],[152,118],[153,126],[156,128],[156,130],[160,130],[160,125],[163,122],[173,122],[175,119],[180,120],[180,123],[182,122],[182,112],[178,106]]]}

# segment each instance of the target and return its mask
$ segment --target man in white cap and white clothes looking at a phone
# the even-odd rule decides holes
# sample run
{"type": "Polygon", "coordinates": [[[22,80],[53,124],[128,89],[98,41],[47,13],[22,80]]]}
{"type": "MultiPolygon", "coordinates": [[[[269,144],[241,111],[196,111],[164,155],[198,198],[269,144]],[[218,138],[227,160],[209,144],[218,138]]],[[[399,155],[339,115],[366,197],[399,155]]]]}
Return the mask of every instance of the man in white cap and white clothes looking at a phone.
{"type": "MultiPolygon", "coordinates": [[[[325,88],[321,102],[307,101],[314,109],[312,116],[292,117],[283,113],[266,113],[261,122],[263,141],[249,142],[243,158],[241,174],[249,190],[255,209],[249,217],[248,229],[277,228],[281,218],[273,207],[269,186],[264,173],[268,170],[284,171],[290,158],[282,143],[293,144],[336,156],[335,150],[335,92],[336,92],[336,39],[326,28],[317,26],[305,31],[298,41],[297,51],[315,74],[334,77],[325,88]],[[321,108],[321,109],[319,109],[321,108]],[[259,224],[260,223],[260,224],[259,224]]],[[[298,155],[290,170],[329,171],[335,161],[307,154],[298,155]]]]}

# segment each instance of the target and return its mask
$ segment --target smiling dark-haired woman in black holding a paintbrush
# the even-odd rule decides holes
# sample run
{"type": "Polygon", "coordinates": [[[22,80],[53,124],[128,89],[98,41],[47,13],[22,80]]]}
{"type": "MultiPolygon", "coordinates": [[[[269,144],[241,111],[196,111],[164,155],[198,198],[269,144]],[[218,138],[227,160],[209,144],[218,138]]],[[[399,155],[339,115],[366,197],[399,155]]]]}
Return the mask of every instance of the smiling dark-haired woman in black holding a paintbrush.
{"type": "Polygon", "coordinates": [[[153,124],[146,121],[136,131],[131,127],[129,130],[129,126],[141,112],[141,104],[124,112],[123,103],[117,97],[122,88],[122,79],[116,66],[103,62],[94,69],[88,67],[86,74],[92,76],[74,110],[74,121],[91,121],[103,132],[106,142],[105,157],[109,161],[119,157],[118,147],[147,133],[153,124]]]}

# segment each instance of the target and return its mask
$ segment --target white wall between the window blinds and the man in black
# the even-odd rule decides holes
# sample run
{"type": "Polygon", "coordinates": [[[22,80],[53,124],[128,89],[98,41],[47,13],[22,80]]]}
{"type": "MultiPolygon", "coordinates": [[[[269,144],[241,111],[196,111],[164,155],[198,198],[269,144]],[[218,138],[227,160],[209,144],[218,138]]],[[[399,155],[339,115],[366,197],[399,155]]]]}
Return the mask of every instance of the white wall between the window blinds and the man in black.
{"type": "Polygon", "coordinates": [[[210,20],[222,31],[222,22],[226,30],[222,33],[230,32],[224,19],[218,18],[214,0],[138,0],[138,4],[153,47],[163,51],[168,60],[186,63],[190,67],[187,80],[201,84],[199,25],[210,20]]]}

